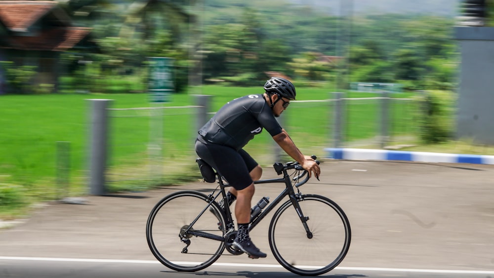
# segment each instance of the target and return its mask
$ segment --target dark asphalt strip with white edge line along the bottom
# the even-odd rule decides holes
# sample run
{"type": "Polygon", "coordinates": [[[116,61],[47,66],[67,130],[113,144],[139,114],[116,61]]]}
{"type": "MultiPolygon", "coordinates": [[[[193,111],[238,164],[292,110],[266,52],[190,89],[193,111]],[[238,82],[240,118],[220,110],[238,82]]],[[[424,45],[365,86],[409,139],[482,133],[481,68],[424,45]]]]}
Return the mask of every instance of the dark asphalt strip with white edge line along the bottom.
{"type": "MultiPolygon", "coordinates": [[[[178,273],[155,261],[37,261],[0,259],[2,278],[297,278],[279,265],[216,264],[204,271],[178,273]]],[[[494,272],[338,267],[324,278],[486,278],[494,272]]]]}

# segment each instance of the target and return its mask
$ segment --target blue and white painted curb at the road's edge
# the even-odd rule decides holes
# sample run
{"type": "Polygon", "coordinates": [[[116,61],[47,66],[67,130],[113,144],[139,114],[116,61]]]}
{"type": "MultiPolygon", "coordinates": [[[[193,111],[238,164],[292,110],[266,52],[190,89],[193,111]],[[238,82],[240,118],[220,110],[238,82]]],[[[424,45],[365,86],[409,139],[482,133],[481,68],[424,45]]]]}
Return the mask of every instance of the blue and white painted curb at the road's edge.
{"type": "Polygon", "coordinates": [[[427,152],[405,152],[388,150],[368,150],[350,148],[327,148],[330,159],[349,160],[405,160],[420,162],[494,164],[494,156],[456,155],[427,152]]]}

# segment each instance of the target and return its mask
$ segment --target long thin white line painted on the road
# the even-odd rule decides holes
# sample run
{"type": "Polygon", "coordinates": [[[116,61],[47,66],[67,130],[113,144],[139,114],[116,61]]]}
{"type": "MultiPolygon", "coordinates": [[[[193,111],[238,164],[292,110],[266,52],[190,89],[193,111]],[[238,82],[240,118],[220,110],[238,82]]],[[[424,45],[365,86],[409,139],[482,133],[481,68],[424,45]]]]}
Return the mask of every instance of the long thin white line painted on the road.
{"type": "MultiPolygon", "coordinates": [[[[2,257],[0,260],[20,260],[20,261],[52,261],[52,262],[89,262],[89,263],[123,263],[123,264],[160,264],[158,261],[146,260],[114,260],[114,259],[73,259],[73,258],[41,258],[41,257],[2,257]]],[[[182,264],[197,264],[193,262],[177,262],[182,264]]],[[[232,263],[214,263],[213,266],[226,267],[264,267],[264,268],[282,268],[281,265],[268,264],[232,264],[232,263]]],[[[321,268],[319,266],[304,266],[304,268],[321,268]]],[[[352,271],[381,271],[381,272],[421,272],[421,273],[451,273],[451,274],[488,274],[494,275],[494,270],[440,270],[440,269],[403,269],[403,268],[374,268],[374,267],[336,267],[335,270],[352,270],[352,271]]]]}

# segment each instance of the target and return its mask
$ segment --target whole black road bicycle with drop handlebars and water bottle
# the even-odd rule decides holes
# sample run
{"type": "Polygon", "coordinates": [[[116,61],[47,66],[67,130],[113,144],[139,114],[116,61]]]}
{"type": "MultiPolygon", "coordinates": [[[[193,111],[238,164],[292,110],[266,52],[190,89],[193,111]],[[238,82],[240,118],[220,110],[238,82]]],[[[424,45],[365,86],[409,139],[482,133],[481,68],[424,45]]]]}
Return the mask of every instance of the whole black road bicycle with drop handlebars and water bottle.
{"type": "MultiPolygon", "coordinates": [[[[221,197],[226,198],[228,182],[204,160],[196,161],[205,181],[217,182],[218,186],[212,192],[208,189],[207,195],[184,190],[166,196],[151,210],[146,225],[151,252],[158,261],[176,271],[199,271],[222,255],[243,254],[232,246],[237,231],[230,207],[221,209],[217,202],[221,197]]],[[[298,162],[275,163],[273,167],[283,177],[254,183],[285,183],[286,188],[272,202],[263,197],[252,208],[249,231],[281,203],[268,229],[273,256],[284,268],[298,275],[329,272],[341,263],[350,248],[347,216],[334,201],[300,192],[309,175],[298,162]],[[282,203],[285,197],[288,200],[282,203]]]]}

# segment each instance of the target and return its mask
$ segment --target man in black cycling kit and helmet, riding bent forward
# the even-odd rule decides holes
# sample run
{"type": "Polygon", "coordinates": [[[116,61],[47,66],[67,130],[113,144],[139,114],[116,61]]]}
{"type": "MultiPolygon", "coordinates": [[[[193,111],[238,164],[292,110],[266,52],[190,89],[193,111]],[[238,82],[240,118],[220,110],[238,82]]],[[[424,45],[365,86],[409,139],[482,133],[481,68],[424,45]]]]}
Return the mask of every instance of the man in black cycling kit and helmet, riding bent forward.
{"type": "Polygon", "coordinates": [[[198,156],[211,165],[232,186],[227,200],[236,199],[235,216],[238,236],[233,246],[247,253],[250,258],[265,258],[248,234],[250,207],[254,195],[254,182],[261,178],[262,168],[243,149],[256,134],[266,129],[273,140],[293,159],[308,171],[309,176],[321,173],[319,165],[309,156],[304,156],[295,146],[288,133],[276,117],[288,108],[296,92],[293,84],[283,78],[273,77],[264,85],[263,94],[252,94],[234,99],[225,104],[200,130],[195,150],[198,156]]]}

